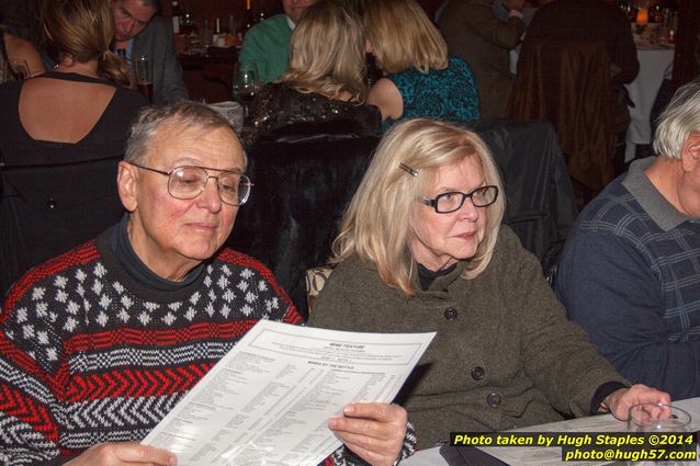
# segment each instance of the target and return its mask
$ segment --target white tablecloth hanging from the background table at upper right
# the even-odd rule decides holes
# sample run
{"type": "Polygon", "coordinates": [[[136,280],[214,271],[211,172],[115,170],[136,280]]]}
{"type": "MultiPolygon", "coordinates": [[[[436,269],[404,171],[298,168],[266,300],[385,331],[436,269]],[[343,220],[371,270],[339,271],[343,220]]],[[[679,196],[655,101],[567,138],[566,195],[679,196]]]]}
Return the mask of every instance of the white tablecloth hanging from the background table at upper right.
{"type": "Polygon", "coordinates": [[[637,144],[650,144],[652,140],[652,125],[650,116],[656,100],[658,89],[664,78],[670,78],[674,70],[673,48],[637,48],[640,73],[634,81],[625,84],[634,107],[630,107],[630,128],[626,134],[626,151],[624,160],[634,158],[634,147],[637,144]]]}

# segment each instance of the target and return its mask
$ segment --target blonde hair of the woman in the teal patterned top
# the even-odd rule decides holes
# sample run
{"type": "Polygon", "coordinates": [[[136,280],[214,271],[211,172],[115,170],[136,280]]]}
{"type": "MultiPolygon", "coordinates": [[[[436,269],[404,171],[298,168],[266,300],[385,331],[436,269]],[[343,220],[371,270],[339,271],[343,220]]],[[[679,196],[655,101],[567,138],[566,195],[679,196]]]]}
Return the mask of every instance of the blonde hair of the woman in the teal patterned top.
{"type": "Polygon", "coordinates": [[[448,66],[448,45],[415,0],[372,0],[364,7],[364,31],[380,68],[422,72],[448,66]]]}

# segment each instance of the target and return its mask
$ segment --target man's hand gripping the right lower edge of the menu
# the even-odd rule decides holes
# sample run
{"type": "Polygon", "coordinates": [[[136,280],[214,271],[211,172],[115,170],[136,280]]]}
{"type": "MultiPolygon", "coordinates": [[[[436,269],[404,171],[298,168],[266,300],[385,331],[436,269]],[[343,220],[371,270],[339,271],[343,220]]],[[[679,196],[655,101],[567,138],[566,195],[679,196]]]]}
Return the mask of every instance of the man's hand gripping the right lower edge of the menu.
{"type": "Polygon", "coordinates": [[[406,410],[398,405],[348,405],[343,418],[332,418],[328,428],[362,459],[373,466],[391,466],[404,445],[406,410]]]}

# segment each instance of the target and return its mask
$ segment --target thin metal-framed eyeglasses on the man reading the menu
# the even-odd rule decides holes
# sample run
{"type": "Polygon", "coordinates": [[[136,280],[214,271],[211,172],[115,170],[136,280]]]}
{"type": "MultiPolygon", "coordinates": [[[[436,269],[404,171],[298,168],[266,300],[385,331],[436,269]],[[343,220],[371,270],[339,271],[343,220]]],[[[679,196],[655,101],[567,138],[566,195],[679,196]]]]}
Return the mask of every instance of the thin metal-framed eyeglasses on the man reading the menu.
{"type": "Polygon", "coordinates": [[[134,167],[153,171],[168,177],[168,193],[179,200],[191,200],[199,196],[206,187],[210,178],[216,180],[218,195],[222,202],[229,205],[244,205],[250,195],[250,179],[242,173],[232,170],[219,170],[208,167],[176,167],[170,171],[156,170],[155,168],[139,166],[129,162],[134,167]],[[218,171],[217,177],[208,174],[207,170],[218,171]]]}

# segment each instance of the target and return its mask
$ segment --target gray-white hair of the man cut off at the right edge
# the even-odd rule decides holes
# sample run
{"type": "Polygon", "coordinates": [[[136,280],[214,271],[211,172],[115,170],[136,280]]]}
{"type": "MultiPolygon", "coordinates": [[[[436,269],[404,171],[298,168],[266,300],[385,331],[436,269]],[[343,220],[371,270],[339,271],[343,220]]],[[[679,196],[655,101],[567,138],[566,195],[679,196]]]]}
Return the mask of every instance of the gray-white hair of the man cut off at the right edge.
{"type": "Polygon", "coordinates": [[[669,159],[680,159],[680,151],[691,133],[700,133],[700,82],[678,88],[657,120],[654,151],[669,159]]]}

